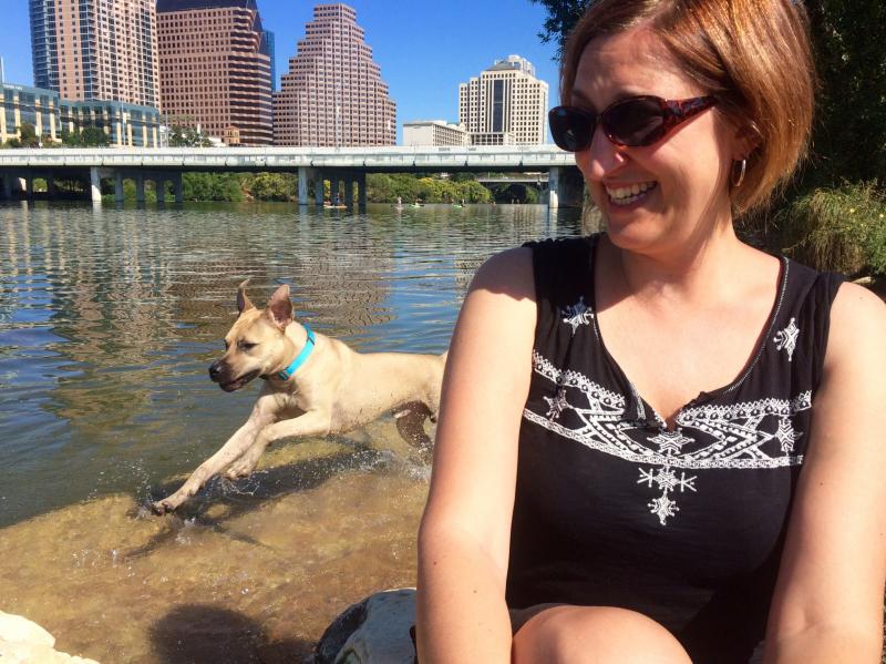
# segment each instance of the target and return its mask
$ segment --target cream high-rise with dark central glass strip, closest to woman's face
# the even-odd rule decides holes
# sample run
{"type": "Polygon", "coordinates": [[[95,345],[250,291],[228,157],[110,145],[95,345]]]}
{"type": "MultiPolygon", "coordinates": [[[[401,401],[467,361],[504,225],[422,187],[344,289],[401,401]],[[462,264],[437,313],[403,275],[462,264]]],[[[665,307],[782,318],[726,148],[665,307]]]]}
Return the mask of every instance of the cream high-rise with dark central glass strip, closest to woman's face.
{"type": "Polygon", "coordinates": [[[459,121],[474,145],[545,142],[547,83],[519,55],[508,55],[459,85],[459,121]]]}

